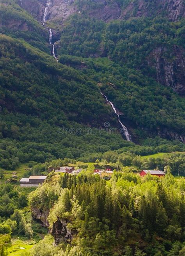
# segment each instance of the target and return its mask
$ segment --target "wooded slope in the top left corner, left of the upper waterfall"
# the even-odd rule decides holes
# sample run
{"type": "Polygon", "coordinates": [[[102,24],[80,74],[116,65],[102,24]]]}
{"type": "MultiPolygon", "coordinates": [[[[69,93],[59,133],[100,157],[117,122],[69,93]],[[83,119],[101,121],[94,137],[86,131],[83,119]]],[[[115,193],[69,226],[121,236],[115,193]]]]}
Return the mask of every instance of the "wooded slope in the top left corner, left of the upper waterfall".
{"type": "Polygon", "coordinates": [[[0,33],[13,38],[21,38],[30,45],[50,53],[44,29],[30,14],[24,11],[13,0],[2,0],[0,3],[0,33]]]}

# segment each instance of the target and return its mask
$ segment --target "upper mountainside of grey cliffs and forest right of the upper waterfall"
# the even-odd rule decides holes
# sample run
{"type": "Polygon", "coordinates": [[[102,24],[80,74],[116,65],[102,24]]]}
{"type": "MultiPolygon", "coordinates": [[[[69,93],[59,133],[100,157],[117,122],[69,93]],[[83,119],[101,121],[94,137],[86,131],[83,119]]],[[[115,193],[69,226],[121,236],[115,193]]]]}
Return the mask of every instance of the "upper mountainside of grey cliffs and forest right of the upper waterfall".
{"type": "MultiPolygon", "coordinates": [[[[43,1],[33,2],[33,5],[37,6],[35,10],[39,9],[37,12],[30,9],[27,0],[18,1],[18,4],[30,11],[37,20],[42,21],[43,1]]],[[[180,95],[185,94],[184,17],[183,0],[55,0],[50,2],[47,13],[47,20],[52,22],[54,41],[59,40],[62,31],[62,41],[57,42],[56,47],[62,48],[62,51],[67,50],[65,54],[83,57],[107,56],[119,63],[126,61],[132,68],[139,68],[154,77],[157,82],[173,87],[180,95]],[[130,18],[135,19],[126,21],[130,18]],[[110,21],[113,21],[113,24],[110,21]],[[96,24],[93,24],[94,22],[96,24]],[[66,25],[75,32],[70,39],[68,32],[66,34],[66,25]],[[75,38],[81,38],[84,33],[78,31],[82,25],[85,30],[87,27],[96,27],[90,34],[86,31],[89,38],[87,41],[91,41],[89,45],[76,42],[75,38]],[[74,27],[77,30],[74,30],[74,27]],[[64,48],[63,44],[68,47],[64,48]],[[78,51],[74,52],[74,47],[77,47],[78,51]],[[80,49],[85,51],[85,56],[80,49]]],[[[60,51],[57,53],[60,54],[60,51]]]]}

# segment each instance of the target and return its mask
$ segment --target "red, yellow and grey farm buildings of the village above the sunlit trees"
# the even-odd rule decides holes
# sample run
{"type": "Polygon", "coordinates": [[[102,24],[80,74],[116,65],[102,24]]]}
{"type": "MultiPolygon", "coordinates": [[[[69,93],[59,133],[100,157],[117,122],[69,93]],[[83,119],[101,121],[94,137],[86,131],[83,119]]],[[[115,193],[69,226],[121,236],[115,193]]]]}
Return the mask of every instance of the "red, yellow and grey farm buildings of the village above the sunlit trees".
{"type": "MultiPolygon", "coordinates": [[[[57,168],[57,170],[54,170],[55,172],[59,173],[64,173],[64,174],[71,174],[71,175],[78,175],[83,169],[78,168],[75,169],[74,167],[69,167],[69,166],[62,166],[57,168]]],[[[111,168],[106,168],[106,169],[94,169],[93,175],[100,175],[101,179],[107,179],[109,180],[112,177],[113,171],[111,168]]],[[[160,170],[142,170],[139,175],[144,176],[144,175],[155,175],[158,177],[164,177],[165,173],[160,170]]],[[[38,187],[39,184],[42,184],[47,176],[30,176],[29,178],[22,178],[20,180],[20,185],[21,187],[38,187]]]]}

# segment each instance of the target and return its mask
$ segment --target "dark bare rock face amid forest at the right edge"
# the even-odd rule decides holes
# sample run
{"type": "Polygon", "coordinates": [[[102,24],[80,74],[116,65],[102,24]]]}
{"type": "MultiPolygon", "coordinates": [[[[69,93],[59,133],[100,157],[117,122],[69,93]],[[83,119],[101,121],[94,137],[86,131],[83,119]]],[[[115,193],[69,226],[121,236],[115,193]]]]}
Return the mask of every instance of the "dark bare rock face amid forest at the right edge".
{"type": "Polygon", "coordinates": [[[165,47],[154,49],[148,57],[148,64],[155,68],[157,82],[185,95],[185,51],[181,47],[174,46],[171,52],[175,58],[167,57],[165,47]]]}

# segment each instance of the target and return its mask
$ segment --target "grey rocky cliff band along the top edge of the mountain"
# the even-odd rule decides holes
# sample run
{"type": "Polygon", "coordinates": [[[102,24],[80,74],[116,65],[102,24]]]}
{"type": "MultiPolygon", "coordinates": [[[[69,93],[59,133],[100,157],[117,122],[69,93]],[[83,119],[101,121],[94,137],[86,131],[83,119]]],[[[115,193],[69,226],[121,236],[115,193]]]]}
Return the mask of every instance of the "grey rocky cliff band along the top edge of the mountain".
{"type": "MultiPolygon", "coordinates": [[[[37,20],[41,21],[43,9],[46,1],[44,0],[17,0],[18,4],[30,12],[37,20]]],[[[163,13],[171,21],[177,21],[185,17],[185,5],[183,0],[51,0],[51,8],[48,13],[52,20],[60,24],[73,13],[86,11],[89,16],[109,22],[116,19],[128,19],[131,17],[151,16],[163,13]]]]}

